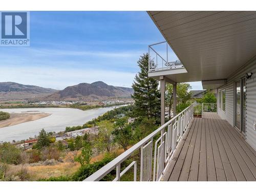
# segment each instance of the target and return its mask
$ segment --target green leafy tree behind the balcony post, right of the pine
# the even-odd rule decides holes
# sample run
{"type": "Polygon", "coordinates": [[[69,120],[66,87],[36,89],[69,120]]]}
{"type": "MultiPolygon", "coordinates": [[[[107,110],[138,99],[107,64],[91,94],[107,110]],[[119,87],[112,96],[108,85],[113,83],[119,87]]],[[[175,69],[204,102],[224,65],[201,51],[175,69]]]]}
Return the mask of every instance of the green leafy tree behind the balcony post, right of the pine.
{"type": "MultiPolygon", "coordinates": [[[[189,83],[177,83],[177,90],[176,90],[176,98],[177,98],[177,105],[176,110],[177,113],[181,112],[187,107],[187,101],[191,99],[191,93],[190,90],[192,87],[189,83]],[[179,106],[179,107],[178,107],[179,106]],[[177,109],[178,108],[178,109],[177,109]]],[[[172,84],[166,84],[166,98],[165,102],[169,106],[168,114],[170,118],[170,112],[173,108],[173,85],[172,84]]]]}

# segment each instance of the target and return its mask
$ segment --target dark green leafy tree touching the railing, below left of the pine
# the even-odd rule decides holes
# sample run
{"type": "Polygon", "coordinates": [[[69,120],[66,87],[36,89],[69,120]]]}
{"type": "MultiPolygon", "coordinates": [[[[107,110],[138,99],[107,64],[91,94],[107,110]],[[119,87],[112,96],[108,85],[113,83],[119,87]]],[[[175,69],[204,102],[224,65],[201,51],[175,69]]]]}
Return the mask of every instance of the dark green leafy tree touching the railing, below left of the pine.
{"type": "Polygon", "coordinates": [[[128,145],[133,139],[132,125],[127,123],[126,118],[117,119],[115,123],[115,130],[112,132],[114,141],[123,147],[126,151],[128,145]]]}

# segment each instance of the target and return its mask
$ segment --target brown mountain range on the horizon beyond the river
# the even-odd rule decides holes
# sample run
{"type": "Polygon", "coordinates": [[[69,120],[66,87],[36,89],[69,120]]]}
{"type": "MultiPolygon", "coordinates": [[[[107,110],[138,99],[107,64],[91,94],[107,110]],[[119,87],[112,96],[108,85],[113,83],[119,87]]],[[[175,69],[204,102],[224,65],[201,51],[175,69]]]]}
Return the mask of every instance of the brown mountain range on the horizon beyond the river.
{"type": "Polygon", "coordinates": [[[132,88],[109,86],[102,81],[79,83],[63,90],[15,82],[0,82],[0,100],[104,100],[110,98],[130,98],[131,94],[133,94],[132,88]]]}

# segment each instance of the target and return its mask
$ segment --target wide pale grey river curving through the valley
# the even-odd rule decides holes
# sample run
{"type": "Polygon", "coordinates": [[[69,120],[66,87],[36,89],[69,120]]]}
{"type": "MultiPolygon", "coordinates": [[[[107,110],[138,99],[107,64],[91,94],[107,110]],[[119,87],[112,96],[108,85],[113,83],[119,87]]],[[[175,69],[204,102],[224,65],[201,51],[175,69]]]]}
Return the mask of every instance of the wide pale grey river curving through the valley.
{"type": "Polygon", "coordinates": [[[103,115],[113,108],[98,108],[82,111],[72,108],[23,108],[1,109],[8,113],[48,113],[48,117],[0,128],[0,141],[23,140],[38,135],[44,128],[47,132],[65,131],[66,126],[82,125],[103,115]]]}

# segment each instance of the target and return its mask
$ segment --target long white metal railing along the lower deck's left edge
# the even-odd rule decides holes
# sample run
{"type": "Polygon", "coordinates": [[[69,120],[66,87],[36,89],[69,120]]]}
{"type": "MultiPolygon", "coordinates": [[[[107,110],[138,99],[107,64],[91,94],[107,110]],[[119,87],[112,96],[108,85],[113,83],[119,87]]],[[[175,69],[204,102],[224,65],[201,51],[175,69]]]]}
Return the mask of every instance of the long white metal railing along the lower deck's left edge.
{"type": "Polygon", "coordinates": [[[159,181],[172,156],[179,145],[188,124],[194,117],[194,105],[191,104],[181,113],[160,126],[156,131],[133,145],[110,163],[100,168],[84,181],[99,181],[116,169],[116,178],[113,181],[120,181],[121,177],[131,168],[134,169],[134,181],[137,180],[139,171],[140,181],[159,181]],[[121,172],[121,164],[127,158],[140,152],[140,160],[133,161],[121,172]],[[154,154],[153,154],[154,152],[154,154]],[[139,167],[139,170],[137,168],[139,167]]]}

